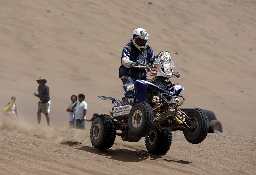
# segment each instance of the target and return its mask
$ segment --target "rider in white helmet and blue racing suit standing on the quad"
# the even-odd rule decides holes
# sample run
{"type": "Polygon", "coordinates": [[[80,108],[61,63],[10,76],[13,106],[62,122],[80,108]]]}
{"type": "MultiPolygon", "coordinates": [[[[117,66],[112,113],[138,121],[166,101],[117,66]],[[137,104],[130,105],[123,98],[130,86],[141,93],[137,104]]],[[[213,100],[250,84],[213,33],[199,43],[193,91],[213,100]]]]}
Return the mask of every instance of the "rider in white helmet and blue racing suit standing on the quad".
{"type": "Polygon", "coordinates": [[[119,77],[124,84],[124,98],[128,105],[133,105],[134,82],[147,79],[145,68],[137,68],[136,61],[148,64],[156,60],[153,49],[147,44],[148,40],[148,32],[143,28],[137,28],[132,32],[130,43],[123,48],[119,77]]]}

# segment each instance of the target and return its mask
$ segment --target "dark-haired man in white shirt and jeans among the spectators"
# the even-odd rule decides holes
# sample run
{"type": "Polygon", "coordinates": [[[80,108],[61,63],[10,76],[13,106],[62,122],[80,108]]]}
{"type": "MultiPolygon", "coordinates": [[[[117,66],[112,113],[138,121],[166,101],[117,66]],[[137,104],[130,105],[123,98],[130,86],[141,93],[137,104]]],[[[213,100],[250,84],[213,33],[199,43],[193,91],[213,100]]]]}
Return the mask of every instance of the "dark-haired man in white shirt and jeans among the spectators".
{"type": "Polygon", "coordinates": [[[78,101],[75,109],[76,128],[84,130],[84,124],[86,120],[87,103],[84,101],[84,94],[78,95],[78,101]]]}

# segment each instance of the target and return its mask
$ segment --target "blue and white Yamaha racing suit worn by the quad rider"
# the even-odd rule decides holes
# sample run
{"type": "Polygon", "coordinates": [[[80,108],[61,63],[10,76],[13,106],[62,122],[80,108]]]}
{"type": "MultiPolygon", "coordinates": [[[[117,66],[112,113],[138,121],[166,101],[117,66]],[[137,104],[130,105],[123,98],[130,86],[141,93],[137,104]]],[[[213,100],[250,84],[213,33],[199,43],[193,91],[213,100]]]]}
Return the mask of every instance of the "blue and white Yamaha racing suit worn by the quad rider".
{"type": "Polygon", "coordinates": [[[156,56],[150,45],[146,46],[144,52],[139,52],[133,46],[132,42],[123,48],[121,57],[121,66],[119,68],[119,77],[124,84],[124,97],[134,98],[134,82],[136,80],[146,80],[147,72],[145,68],[133,68],[132,63],[142,61],[144,63],[153,63],[156,56]]]}

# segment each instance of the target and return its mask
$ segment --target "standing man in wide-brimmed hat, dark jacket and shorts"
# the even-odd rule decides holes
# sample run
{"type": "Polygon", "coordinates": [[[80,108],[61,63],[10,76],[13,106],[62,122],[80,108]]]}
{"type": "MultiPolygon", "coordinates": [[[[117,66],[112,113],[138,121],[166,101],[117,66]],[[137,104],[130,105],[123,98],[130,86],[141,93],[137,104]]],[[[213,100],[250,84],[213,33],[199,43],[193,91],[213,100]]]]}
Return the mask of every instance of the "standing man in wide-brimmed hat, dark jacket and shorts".
{"type": "Polygon", "coordinates": [[[47,82],[46,79],[40,77],[36,82],[39,84],[38,86],[38,94],[34,92],[36,97],[39,97],[40,100],[38,101],[38,111],[37,111],[37,123],[41,122],[41,113],[43,113],[47,120],[47,125],[50,126],[50,96],[49,96],[49,87],[45,85],[47,82]]]}

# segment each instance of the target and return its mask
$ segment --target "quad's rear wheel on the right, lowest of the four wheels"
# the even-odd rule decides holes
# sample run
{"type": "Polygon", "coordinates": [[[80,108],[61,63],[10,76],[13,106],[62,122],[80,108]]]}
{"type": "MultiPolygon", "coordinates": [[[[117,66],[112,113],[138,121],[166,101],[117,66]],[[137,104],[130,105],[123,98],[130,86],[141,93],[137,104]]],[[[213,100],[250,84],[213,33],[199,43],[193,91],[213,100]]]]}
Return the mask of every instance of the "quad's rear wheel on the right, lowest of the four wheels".
{"type": "Polygon", "coordinates": [[[164,155],[172,143],[172,130],[151,130],[146,138],[146,147],[149,153],[164,155]]]}

